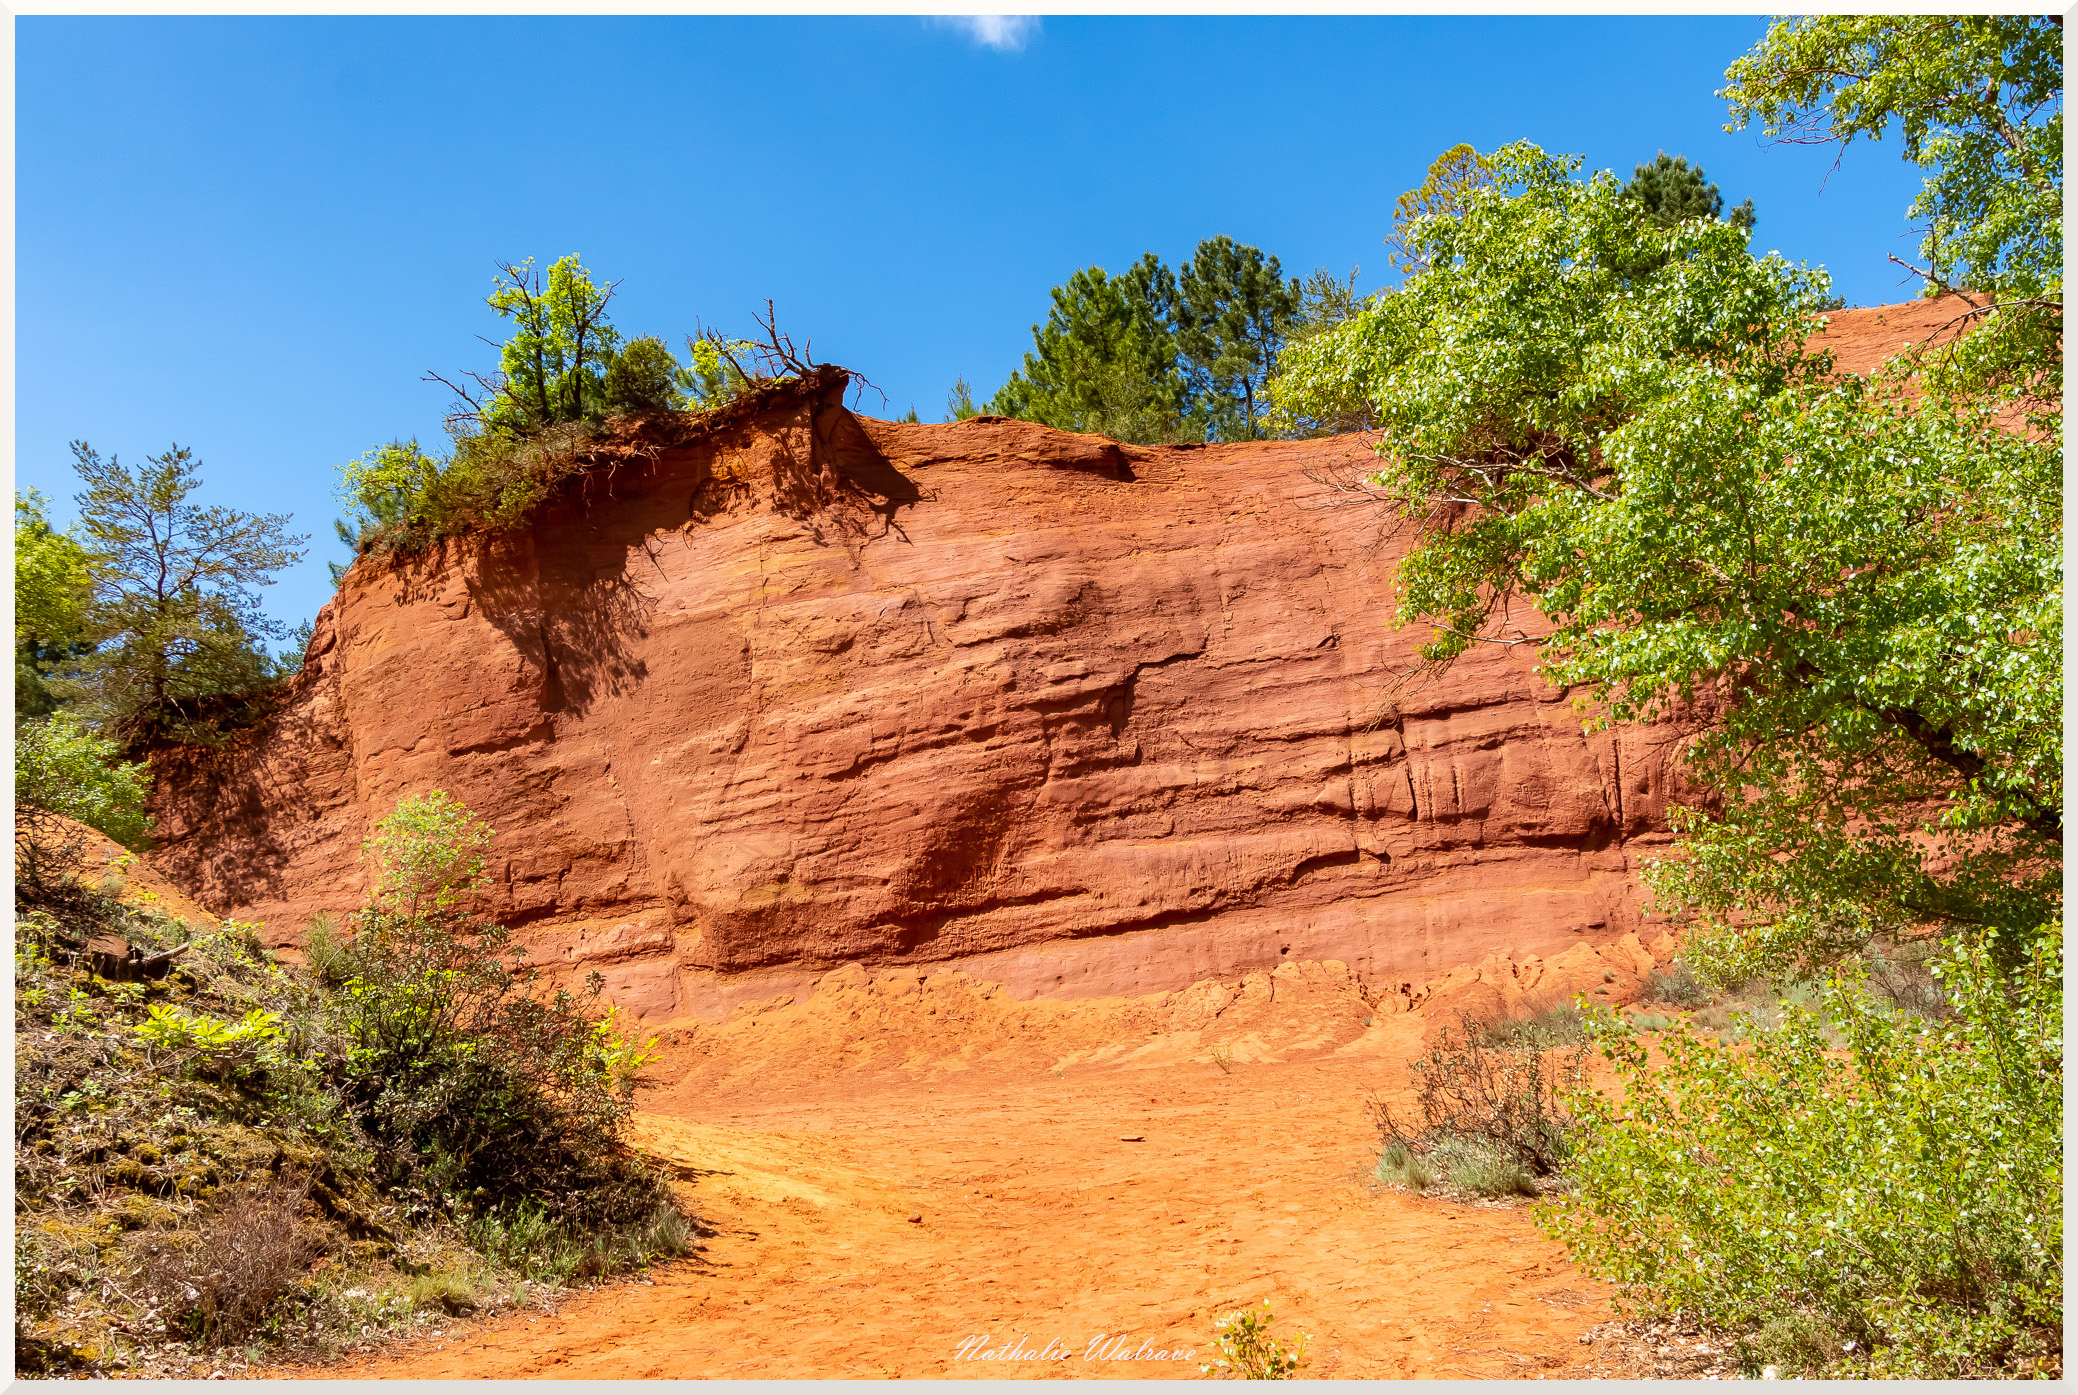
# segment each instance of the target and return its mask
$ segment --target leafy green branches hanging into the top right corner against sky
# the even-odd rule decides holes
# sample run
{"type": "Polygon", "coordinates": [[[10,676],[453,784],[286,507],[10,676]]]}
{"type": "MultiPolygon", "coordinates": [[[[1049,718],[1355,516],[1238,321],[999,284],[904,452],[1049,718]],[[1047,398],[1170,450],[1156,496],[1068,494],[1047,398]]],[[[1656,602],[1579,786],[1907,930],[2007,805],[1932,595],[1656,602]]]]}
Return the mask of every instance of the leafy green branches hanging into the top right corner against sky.
{"type": "Polygon", "coordinates": [[[1910,214],[1926,293],[1964,291],[1974,333],[1935,368],[2009,393],[2036,430],[2063,399],[2063,25],[2053,15],[1820,15],[1777,21],[1725,73],[1731,125],[1847,146],[1895,129],[1926,170],[1910,214]]]}

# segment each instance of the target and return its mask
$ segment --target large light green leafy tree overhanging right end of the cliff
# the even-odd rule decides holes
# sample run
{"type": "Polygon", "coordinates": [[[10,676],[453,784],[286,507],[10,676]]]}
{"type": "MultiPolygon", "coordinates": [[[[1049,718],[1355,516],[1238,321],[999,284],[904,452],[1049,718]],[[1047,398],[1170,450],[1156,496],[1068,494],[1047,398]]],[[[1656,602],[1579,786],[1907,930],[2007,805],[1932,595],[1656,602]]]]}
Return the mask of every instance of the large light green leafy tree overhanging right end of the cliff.
{"type": "Polygon", "coordinates": [[[1550,622],[1546,676],[1604,719],[1704,699],[1662,898],[1743,975],[1883,933],[2039,925],[2061,896],[2053,443],[1926,412],[1804,347],[1824,281],[1723,222],[1660,227],[1529,146],[1417,227],[1432,270],[1278,378],[1369,395],[1369,486],[1419,528],[1426,655],[1550,622]],[[1735,680],[1735,682],[1733,682],[1735,680]]]}

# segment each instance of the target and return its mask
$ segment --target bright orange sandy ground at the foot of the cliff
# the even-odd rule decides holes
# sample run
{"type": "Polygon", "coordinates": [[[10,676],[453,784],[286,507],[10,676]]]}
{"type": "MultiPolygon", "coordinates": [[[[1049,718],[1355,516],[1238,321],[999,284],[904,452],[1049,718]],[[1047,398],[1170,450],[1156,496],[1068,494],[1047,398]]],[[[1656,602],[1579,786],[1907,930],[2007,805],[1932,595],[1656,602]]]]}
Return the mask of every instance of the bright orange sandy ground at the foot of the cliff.
{"type": "Polygon", "coordinates": [[[842,981],[682,1025],[636,1141],[715,1231],[694,1260],[295,1374],[1197,1378],[1263,1299],[1307,1376],[1586,1374],[1608,1289],[1525,1208],[1367,1179],[1365,1096],[1436,1015],[1336,969],[1081,1004],[842,981]]]}

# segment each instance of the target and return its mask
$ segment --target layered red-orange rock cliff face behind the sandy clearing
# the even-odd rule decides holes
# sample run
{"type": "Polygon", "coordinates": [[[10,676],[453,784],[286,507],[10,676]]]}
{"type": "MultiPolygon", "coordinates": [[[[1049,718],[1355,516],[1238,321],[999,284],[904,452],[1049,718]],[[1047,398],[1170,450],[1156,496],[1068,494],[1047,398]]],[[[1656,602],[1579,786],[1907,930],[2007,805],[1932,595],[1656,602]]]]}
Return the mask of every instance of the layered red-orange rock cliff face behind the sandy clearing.
{"type": "Polygon", "coordinates": [[[860,960],[1135,994],[1376,983],[1642,927],[1677,734],[1586,736],[1527,647],[1409,684],[1355,437],[1120,447],[840,389],[359,561],[283,713],[160,761],[158,865],[301,938],[443,788],[490,909],[644,1017],[860,960]]]}

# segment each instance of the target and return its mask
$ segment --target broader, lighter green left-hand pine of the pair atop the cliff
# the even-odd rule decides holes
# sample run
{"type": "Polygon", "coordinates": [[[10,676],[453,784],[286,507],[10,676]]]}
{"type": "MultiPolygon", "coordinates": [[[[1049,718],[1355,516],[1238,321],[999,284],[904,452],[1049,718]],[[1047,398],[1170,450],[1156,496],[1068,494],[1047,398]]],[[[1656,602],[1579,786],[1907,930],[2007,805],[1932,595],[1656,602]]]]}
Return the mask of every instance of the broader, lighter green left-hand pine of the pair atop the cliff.
{"type": "Polygon", "coordinates": [[[1054,287],[1045,324],[1033,324],[1022,370],[989,412],[1116,441],[1189,441],[1189,389],[1168,326],[1174,274],[1151,252],[1126,274],[1101,266],[1054,287]]]}

